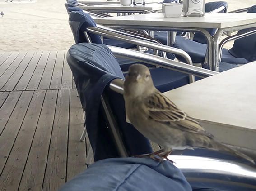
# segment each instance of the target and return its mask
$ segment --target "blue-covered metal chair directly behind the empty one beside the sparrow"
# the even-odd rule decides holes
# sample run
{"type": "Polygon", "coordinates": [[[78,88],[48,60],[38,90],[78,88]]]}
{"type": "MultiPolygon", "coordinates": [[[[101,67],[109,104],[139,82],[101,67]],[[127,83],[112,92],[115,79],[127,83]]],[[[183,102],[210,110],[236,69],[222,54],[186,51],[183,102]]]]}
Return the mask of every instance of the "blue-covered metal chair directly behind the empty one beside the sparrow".
{"type": "MultiPolygon", "coordinates": [[[[71,12],[69,23],[70,23],[70,27],[72,29],[76,43],[88,42],[87,39],[90,39],[91,42],[93,42],[93,43],[97,43],[97,44],[102,43],[99,35],[96,35],[96,34],[93,34],[92,32],[90,32],[91,27],[94,27],[94,29],[97,29],[97,28],[95,28],[96,27],[95,22],[87,13],[83,13],[83,12],[79,12],[79,11],[71,12]],[[87,33],[84,33],[84,31],[87,31],[87,33]],[[87,37],[86,37],[86,34],[88,35],[87,37]]],[[[102,34],[103,31],[104,30],[101,30],[99,32],[102,34]]],[[[119,35],[119,36],[121,36],[121,35],[119,35]]],[[[114,36],[113,36],[113,38],[114,38],[114,36]]],[[[128,36],[124,36],[124,37],[122,37],[122,40],[127,41],[127,38],[128,38],[128,36]]],[[[119,38],[119,39],[121,39],[121,38],[119,38]]],[[[133,42],[139,41],[139,39],[136,39],[136,38],[130,38],[130,39],[132,39],[133,42]]],[[[146,43],[155,47],[154,46],[155,44],[153,44],[153,43],[149,43],[149,42],[146,42],[146,43]]],[[[152,46],[149,48],[152,48],[152,46]]],[[[171,48],[171,47],[167,47],[167,46],[158,44],[158,47],[156,47],[156,49],[158,49],[159,47],[163,47],[165,49],[171,48]]],[[[174,51],[174,49],[172,49],[172,50],[174,51]]],[[[171,52],[172,52],[172,50],[171,50],[171,52]]],[[[168,51],[168,50],[166,50],[166,51],[168,51]]],[[[169,53],[171,53],[171,52],[169,51],[169,53]]],[[[137,63],[130,59],[127,62],[127,58],[126,59],[122,58],[122,60],[118,59],[118,62],[123,71],[124,71],[124,69],[127,70],[127,68],[130,66],[130,64],[137,63]],[[122,63],[121,62],[122,60],[125,60],[126,62],[122,63]]],[[[187,58],[186,58],[185,62],[188,62],[187,58]]],[[[151,66],[151,65],[148,65],[148,66],[151,66]]],[[[165,92],[170,89],[180,87],[180,86],[188,84],[190,82],[189,76],[187,74],[182,74],[182,73],[176,72],[176,71],[170,71],[165,68],[152,68],[151,72],[152,72],[154,83],[155,83],[156,87],[159,89],[159,91],[161,91],[161,92],[165,92]]]]}

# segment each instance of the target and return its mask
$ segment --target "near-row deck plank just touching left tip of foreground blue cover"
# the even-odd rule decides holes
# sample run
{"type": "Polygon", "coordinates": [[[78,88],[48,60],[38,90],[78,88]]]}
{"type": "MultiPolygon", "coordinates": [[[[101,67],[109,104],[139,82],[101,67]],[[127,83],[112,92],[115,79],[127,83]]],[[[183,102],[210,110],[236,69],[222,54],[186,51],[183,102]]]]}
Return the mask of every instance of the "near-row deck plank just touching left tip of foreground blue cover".
{"type": "Polygon", "coordinates": [[[70,90],[59,90],[42,191],[57,191],[66,180],[69,105],[70,90]]]}

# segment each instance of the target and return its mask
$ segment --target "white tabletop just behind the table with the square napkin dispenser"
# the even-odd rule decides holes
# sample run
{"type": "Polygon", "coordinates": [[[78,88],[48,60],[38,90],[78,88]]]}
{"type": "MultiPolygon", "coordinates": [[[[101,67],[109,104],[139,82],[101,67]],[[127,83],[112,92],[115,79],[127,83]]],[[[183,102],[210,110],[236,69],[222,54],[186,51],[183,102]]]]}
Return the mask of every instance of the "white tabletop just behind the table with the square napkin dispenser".
{"type": "Polygon", "coordinates": [[[102,4],[102,5],[94,5],[94,6],[86,6],[81,7],[84,10],[119,10],[119,11],[152,11],[152,10],[161,10],[162,4],[158,3],[148,3],[145,5],[129,5],[123,6],[121,4],[102,4]]]}

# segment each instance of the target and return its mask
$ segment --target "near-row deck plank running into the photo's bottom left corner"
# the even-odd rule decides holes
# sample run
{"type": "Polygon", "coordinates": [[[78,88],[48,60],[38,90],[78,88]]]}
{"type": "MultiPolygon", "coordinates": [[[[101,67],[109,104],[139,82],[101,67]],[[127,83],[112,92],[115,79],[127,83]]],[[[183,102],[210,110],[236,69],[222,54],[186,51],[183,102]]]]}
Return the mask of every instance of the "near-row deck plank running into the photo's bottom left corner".
{"type": "Polygon", "coordinates": [[[14,147],[0,176],[0,188],[5,191],[17,191],[25,167],[37,121],[42,108],[46,91],[36,91],[28,107],[27,114],[14,147]]]}

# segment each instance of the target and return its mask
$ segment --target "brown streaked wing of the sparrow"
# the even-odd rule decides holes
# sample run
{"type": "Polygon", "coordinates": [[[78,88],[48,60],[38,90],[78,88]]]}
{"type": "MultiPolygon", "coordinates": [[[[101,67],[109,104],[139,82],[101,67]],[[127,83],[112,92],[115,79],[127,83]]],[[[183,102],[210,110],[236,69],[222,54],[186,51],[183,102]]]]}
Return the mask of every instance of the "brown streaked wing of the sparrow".
{"type": "Polygon", "coordinates": [[[175,124],[172,128],[200,133],[212,137],[205,129],[192,117],[180,110],[171,100],[162,93],[154,93],[145,99],[145,106],[149,111],[149,119],[164,124],[175,124]]]}

